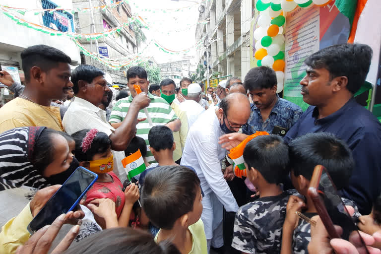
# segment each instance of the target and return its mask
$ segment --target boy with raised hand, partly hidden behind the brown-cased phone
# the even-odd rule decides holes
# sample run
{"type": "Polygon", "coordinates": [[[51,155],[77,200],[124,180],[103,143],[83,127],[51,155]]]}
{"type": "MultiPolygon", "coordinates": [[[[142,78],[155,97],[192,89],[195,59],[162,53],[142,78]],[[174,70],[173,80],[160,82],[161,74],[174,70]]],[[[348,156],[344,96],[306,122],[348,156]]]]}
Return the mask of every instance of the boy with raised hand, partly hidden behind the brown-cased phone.
{"type": "MultiPolygon", "coordinates": [[[[291,196],[287,204],[286,219],[283,224],[281,254],[308,254],[311,241],[311,224],[299,219],[296,211],[306,217],[318,215],[312,199],[307,195],[310,181],[317,165],[323,165],[338,190],[348,185],[354,160],[347,144],[335,135],[325,132],[309,133],[289,144],[291,180],[305,200],[291,196]]],[[[359,217],[358,208],[352,200],[341,198],[345,205],[355,209],[353,217],[359,217]]]]}

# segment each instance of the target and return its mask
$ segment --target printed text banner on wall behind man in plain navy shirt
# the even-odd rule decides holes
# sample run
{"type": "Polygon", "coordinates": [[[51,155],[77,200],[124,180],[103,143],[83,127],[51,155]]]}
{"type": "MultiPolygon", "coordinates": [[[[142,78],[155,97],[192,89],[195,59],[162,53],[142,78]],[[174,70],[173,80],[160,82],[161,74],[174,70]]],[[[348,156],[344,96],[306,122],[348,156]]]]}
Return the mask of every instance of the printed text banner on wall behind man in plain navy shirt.
{"type": "Polygon", "coordinates": [[[287,13],[285,24],[285,71],[283,97],[306,110],[299,84],[306,75],[305,59],[319,49],[346,43],[349,19],[335,6],[335,1],[318,7],[296,8],[287,13]]]}

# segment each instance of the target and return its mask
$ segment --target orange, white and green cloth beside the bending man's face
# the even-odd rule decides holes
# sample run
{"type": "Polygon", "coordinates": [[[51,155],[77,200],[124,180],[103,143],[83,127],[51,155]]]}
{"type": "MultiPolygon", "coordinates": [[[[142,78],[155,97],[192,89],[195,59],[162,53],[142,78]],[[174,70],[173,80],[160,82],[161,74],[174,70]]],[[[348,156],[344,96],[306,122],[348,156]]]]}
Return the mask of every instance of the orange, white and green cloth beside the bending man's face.
{"type": "Polygon", "coordinates": [[[268,133],[266,131],[257,131],[253,135],[248,136],[239,145],[230,149],[230,153],[228,154],[228,156],[234,161],[233,173],[236,177],[239,177],[239,178],[247,177],[245,161],[244,161],[245,146],[254,137],[261,136],[261,135],[268,135],[268,133]]]}

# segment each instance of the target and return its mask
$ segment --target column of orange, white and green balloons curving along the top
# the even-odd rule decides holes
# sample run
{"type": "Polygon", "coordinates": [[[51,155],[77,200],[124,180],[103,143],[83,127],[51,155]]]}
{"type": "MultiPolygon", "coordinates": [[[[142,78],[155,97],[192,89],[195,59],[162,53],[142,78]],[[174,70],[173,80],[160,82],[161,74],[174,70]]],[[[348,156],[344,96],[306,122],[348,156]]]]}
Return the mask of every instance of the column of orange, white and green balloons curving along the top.
{"type": "Polygon", "coordinates": [[[284,13],[296,7],[307,8],[311,4],[324,6],[331,0],[257,0],[259,11],[258,27],[254,31],[255,54],[258,66],[268,66],[275,70],[277,78],[277,93],[284,87],[284,35],[283,25],[286,22],[284,13]]]}

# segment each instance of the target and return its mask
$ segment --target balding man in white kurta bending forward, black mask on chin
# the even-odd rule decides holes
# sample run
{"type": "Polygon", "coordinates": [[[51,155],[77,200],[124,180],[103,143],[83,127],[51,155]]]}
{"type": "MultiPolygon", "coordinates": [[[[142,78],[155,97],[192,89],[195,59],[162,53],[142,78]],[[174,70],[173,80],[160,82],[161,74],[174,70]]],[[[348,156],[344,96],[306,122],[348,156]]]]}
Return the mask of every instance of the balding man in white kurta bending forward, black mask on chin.
{"type": "Polygon", "coordinates": [[[250,116],[250,103],[243,94],[223,99],[219,108],[209,109],[192,125],[181,160],[195,169],[204,192],[201,219],[205,227],[208,250],[223,246],[222,206],[229,212],[238,210],[237,202],[224,179],[220,161],[226,150],[218,144],[220,136],[237,132],[250,116]]]}

